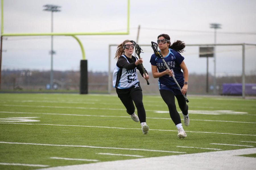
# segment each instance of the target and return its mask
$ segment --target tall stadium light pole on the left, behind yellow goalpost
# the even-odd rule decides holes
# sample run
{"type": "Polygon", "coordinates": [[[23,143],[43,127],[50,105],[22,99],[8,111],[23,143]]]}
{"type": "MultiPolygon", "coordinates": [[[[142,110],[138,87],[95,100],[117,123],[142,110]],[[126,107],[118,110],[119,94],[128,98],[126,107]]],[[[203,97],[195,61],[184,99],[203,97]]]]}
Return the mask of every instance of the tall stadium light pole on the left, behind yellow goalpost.
{"type": "MultiPolygon", "coordinates": [[[[60,12],[59,8],[60,6],[57,5],[44,5],[45,11],[50,11],[51,12],[51,32],[53,32],[53,12],[60,12]]],[[[53,54],[55,54],[55,51],[53,51],[53,36],[51,36],[51,72],[50,72],[50,85],[51,88],[53,89],[53,54]]]]}

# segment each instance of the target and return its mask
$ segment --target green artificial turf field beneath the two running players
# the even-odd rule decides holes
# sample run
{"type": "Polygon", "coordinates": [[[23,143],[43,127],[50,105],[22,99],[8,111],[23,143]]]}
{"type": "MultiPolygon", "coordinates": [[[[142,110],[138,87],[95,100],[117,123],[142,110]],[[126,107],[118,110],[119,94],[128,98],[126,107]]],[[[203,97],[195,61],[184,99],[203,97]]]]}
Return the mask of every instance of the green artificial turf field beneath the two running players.
{"type": "Polygon", "coordinates": [[[117,95],[0,94],[0,169],[256,147],[256,99],[188,99],[190,125],[179,139],[160,95],[143,96],[150,128],[143,135],[117,95]]]}

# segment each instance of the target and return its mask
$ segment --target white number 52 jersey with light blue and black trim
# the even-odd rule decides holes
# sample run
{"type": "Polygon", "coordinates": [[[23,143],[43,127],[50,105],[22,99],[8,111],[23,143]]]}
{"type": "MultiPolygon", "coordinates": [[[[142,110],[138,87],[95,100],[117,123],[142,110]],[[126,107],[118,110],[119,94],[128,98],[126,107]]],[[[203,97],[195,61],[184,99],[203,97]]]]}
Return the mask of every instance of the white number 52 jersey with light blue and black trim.
{"type": "MultiPolygon", "coordinates": [[[[128,59],[125,55],[120,57],[124,57],[129,63],[128,59]]],[[[137,61],[137,58],[136,58],[137,61]]],[[[119,89],[127,89],[135,85],[138,80],[138,75],[136,73],[136,67],[132,70],[127,70],[125,68],[119,68],[115,65],[115,69],[113,72],[113,87],[119,89]]]]}

